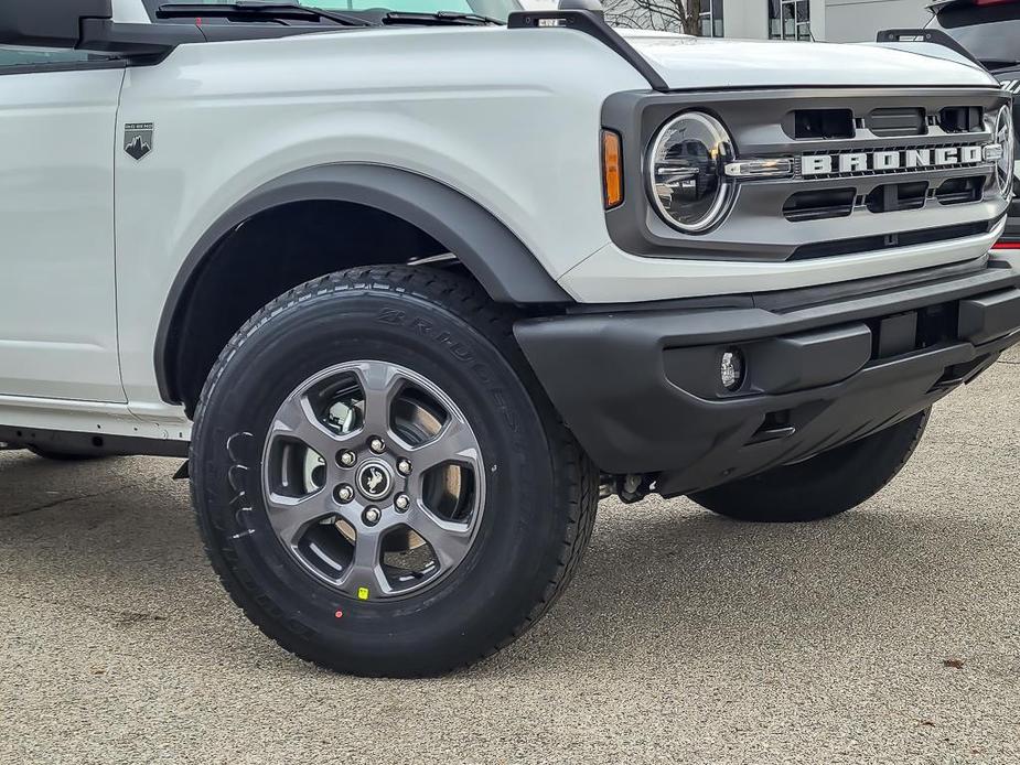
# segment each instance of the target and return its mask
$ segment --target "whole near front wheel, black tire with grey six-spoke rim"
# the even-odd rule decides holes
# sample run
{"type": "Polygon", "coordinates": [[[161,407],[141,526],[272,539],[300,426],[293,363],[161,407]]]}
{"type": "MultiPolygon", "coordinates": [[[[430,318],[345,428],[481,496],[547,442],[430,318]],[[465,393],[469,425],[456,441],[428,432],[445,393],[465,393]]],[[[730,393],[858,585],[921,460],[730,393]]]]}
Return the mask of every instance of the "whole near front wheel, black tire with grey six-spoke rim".
{"type": "Polygon", "coordinates": [[[284,648],[356,675],[484,657],[563,590],[597,474],[471,282],[310,282],[235,336],[196,413],[192,485],[224,585],[284,648]]]}

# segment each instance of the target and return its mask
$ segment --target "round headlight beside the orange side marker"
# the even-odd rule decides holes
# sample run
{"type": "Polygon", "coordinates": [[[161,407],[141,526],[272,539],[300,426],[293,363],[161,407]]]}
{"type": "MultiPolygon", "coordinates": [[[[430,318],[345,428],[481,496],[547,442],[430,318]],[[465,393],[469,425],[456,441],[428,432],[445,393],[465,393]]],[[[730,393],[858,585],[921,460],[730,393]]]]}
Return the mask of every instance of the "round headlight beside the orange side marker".
{"type": "Polygon", "coordinates": [[[723,172],[733,142],[710,115],[687,111],[666,122],[652,142],[652,200],[666,223],[681,231],[704,231],[722,220],[733,200],[733,180],[723,172]]]}

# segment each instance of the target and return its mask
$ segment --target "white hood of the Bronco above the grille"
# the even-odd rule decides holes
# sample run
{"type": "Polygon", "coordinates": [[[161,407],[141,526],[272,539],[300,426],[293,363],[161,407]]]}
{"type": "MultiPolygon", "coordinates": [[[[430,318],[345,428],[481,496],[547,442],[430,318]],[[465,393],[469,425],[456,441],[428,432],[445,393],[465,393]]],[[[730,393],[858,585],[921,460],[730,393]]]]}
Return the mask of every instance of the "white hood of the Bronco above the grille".
{"type": "MultiPolygon", "coordinates": [[[[996,86],[987,72],[947,60],[952,51],[914,44],[916,51],[876,44],[836,44],[691,37],[618,30],[670,88],[783,86],[996,86]]],[[[955,55],[955,54],[953,54],[955,55]]]]}

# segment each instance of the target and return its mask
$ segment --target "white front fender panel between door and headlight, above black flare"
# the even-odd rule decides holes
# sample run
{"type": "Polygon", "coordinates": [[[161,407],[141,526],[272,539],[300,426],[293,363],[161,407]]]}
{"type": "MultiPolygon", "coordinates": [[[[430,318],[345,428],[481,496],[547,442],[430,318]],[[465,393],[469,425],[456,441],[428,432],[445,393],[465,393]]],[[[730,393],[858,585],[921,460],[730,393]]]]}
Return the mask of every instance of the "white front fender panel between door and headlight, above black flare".
{"type": "Polygon", "coordinates": [[[154,126],[148,157],[117,158],[121,362],[132,407],[160,400],[153,344],[184,258],[225,211],[293,171],[357,163],[428,176],[493,212],[561,277],[608,241],[600,110],[623,89],[647,83],[598,41],[556,30],[390,29],[186,45],[159,66],[130,69],[119,129],[154,126]]]}

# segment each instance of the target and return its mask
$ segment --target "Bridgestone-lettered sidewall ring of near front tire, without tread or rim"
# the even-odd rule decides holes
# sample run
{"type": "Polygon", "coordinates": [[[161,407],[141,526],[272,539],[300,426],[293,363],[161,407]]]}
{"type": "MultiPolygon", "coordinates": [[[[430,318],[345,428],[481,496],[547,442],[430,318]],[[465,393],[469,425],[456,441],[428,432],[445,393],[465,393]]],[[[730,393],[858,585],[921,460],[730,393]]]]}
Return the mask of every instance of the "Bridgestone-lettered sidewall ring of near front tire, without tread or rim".
{"type": "Polygon", "coordinates": [[[508,637],[554,577],[567,519],[550,511],[560,503],[547,435],[507,359],[426,300],[335,284],[239,336],[196,418],[193,481],[214,564],[249,615],[332,666],[345,656],[448,665],[508,637]],[[471,423],[485,464],[486,506],[468,557],[404,599],[356,601],[316,580],[277,539],[262,502],[262,448],[277,409],[305,379],[352,360],[398,364],[438,385],[471,423]]]}

